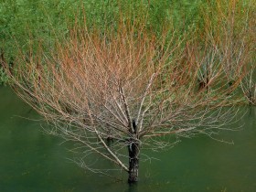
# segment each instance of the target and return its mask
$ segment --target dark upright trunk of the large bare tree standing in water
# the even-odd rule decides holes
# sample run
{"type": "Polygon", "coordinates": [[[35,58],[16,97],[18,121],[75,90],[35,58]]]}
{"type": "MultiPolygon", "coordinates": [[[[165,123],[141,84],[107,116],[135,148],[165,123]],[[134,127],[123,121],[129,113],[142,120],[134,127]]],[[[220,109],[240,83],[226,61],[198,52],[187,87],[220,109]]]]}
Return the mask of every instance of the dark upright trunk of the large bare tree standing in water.
{"type": "Polygon", "coordinates": [[[140,155],[140,144],[137,137],[137,125],[133,120],[132,129],[130,130],[130,141],[128,144],[129,152],[129,177],[128,183],[136,183],[139,176],[139,155],[140,155]]]}

